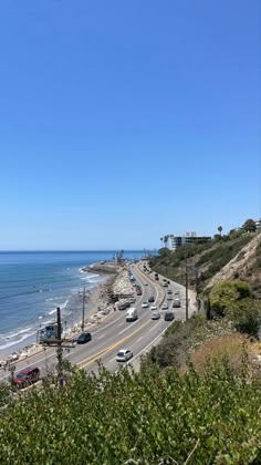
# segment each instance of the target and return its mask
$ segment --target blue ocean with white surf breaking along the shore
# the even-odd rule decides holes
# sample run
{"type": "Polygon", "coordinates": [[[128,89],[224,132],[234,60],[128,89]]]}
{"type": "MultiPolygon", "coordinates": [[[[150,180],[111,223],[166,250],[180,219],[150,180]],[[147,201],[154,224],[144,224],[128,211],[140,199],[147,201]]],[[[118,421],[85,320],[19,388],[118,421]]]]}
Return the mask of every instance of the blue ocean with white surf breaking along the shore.
{"type": "MultiPolygon", "coordinates": [[[[0,252],[0,356],[36,341],[36,331],[61,308],[64,329],[81,319],[80,292],[105,281],[83,272],[95,261],[112,260],[114,251],[0,252]]],[[[126,251],[139,259],[143,251],[126,251]]],[[[87,312],[87,304],[86,304],[87,312]]]]}

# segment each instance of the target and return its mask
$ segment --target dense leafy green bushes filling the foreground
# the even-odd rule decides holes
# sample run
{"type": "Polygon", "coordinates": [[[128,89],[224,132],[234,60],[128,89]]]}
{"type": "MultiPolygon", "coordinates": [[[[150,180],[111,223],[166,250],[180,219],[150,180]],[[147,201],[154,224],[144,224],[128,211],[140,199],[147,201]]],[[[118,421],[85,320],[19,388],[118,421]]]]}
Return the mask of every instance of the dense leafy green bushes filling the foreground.
{"type": "Polygon", "coordinates": [[[0,417],[1,464],[260,463],[260,380],[226,360],[180,375],[77,372],[0,417]],[[255,462],[253,462],[255,461],[255,462]]]}

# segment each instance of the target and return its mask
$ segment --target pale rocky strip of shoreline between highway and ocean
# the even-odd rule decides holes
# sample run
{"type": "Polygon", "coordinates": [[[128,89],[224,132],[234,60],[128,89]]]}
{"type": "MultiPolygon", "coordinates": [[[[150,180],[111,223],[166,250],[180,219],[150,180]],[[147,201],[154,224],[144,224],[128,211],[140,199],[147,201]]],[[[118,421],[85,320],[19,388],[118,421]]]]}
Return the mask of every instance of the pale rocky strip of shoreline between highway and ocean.
{"type": "MultiPolygon", "coordinates": [[[[83,272],[97,271],[95,265],[90,267],[83,267],[83,272]]],[[[106,278],[105,282],[98,283],[93,289],[88,291],[87,303],[85,308],[85,319],[84,319],[84,331],[91,331],[97,324],[103,323],[113,312],[115,307],[109,302],[108,291],[114,293],[125,292],[126,287],[130,285],[127,279],[126,267],[116,267],[114,272],[109,271],[108,273],[101,275],[101,277],[106,278]]],[[[129,290],[129,289],[128,289],[129,290]]],[[[63,331],[63,339],[74,340],[82,332],[82,319],[79,319],[70,328],[63,331]]],[[[13,364],[18,361],[24,361],[32,355],[35,355],[43,351],[42,344],[34,342],[23,348],[12,351],[9,353],[1,354],[0,369],[6,368],[7,365],[13,364]]]]}

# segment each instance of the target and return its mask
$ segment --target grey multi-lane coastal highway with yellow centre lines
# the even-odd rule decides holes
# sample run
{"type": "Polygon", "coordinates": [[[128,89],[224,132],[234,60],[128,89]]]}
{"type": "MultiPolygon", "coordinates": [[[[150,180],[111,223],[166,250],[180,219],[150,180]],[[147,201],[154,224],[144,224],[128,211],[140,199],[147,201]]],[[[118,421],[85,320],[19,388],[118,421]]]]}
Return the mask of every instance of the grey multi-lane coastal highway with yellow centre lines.
{"type": "MultiPolygon", "coordinates": [[[[164,320],[165,311],[160,310],[164,301],[168,303],[169,309],[173,307],[173,300],[167,301],[167,289],[179,290],[181,308],[174,309],[176,319],[185,319],[185,289],[182,286],[173,283],[168,288],[163,287],[161,278],[155,281],[142,270],[142,265],[132,265],[132,272],[136,278],[136,282],[140,285],[143,294],[136,297],[133,307],[137,308],[138,319],[134,322],[126,322],[126,310],[116,311],[106,321],[100,323],[92,332],[92,341],[86,344],[75,344],[73,349],[64,350],[64,358],[67,358],[73,364],[84,370],[97,371],[97,360],[101,360],[104,366],[109,371],[116,371],[118,363],[115,358],[121,349],[129,349],[134,358],[132,364],[139,364],[139,356],[148,350],[152,344],[160,338],[170,322],[164,320]],[[152,320],[152,310],[142,308],[142,302],[147,302],[148,298],[155,297],[155,304],[160,312],[159,320],[152,320]]],[[[153,304],[153,303],[150,303],[153,304]]],[[[149,306],[150,306],[149,304],[149,306]]],[[[55,349],[46,349],[35,355],[15,363],[15,372],[25,366],[35,365],[41,370],[41,374],[54,370],[56,365],[55,349]]],[[[0,370],[0,381],[7,381],[10,376],[9,372],[0,370]]]]}

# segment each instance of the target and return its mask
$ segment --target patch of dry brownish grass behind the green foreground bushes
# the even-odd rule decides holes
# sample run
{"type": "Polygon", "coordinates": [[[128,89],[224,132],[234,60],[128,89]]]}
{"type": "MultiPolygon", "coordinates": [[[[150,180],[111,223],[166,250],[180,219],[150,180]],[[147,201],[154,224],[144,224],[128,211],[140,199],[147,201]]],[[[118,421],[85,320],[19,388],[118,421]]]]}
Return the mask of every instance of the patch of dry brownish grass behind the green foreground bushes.
{"type": "MultiPolygon", "coordinates": [[[[208,359],[221,359],[226,355],[231,369],[238,371],[242,362],[243,348],[248,353],[250,366],[255,365],[253,344],[246,335],[237,332],[209,339],[194,350],[190,359],[196,371],[202,373],[208,359]]],[[[186,370],[186,365],[182,365],[181,372],[186,370]]]]}

